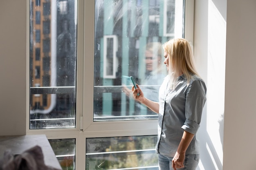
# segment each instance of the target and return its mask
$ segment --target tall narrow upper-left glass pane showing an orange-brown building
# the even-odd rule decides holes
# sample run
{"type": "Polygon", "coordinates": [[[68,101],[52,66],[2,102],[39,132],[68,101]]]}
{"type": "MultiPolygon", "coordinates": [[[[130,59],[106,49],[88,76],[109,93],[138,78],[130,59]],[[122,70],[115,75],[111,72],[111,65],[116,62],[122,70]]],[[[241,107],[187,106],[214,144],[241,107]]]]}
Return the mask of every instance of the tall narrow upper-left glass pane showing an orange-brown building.
{"type": "Polygon", "coordinates": [[[30,129],[76,127],[76,0],[30,0],[30,129]]]}

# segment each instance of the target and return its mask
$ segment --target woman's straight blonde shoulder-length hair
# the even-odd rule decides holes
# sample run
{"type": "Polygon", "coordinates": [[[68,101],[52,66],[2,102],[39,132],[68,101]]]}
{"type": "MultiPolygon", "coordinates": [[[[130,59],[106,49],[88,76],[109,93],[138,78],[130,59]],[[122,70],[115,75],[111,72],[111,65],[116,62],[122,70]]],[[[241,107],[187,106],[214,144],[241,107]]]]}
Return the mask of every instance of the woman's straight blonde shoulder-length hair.
{"type": "Polygon", "coordinates": [[[199,77],[198,72],[195,69],[194,56],[191,50],[191,46],[184,38],[171,39],[164,43],[164,51],[169,55],[168,63],[168,75],[169,86],[171,89],[175,88],[177,84],[177,78],[184,74],[187,79],[187,85],[193,76],[199,77]]]}

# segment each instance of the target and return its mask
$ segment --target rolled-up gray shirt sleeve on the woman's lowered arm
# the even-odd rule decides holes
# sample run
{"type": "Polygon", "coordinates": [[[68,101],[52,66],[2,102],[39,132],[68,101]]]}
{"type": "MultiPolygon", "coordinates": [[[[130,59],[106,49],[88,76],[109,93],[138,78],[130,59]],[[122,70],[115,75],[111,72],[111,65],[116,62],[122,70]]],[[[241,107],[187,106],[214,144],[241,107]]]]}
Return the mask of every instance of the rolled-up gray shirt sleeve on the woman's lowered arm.
{"type": "Polygon", "coordinates": [[[191,81],[186,89],[185,117],[182,128],[187,132],[195,134],[202,117],[202,110],[206,102],[206,86],[202,79],[191,81]]]}

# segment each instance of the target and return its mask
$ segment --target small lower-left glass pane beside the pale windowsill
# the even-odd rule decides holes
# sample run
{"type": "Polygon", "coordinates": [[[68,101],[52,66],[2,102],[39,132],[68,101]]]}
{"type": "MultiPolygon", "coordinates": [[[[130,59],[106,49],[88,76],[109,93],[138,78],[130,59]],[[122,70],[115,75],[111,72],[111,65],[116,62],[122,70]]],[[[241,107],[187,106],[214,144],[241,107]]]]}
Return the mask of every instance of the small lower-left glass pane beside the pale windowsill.
{"type": "Polygon", "coordinates": [[[63,170],[75,169],[75,153],[76,140],[75,139],[49,139],[61,168],[63,170]]]}

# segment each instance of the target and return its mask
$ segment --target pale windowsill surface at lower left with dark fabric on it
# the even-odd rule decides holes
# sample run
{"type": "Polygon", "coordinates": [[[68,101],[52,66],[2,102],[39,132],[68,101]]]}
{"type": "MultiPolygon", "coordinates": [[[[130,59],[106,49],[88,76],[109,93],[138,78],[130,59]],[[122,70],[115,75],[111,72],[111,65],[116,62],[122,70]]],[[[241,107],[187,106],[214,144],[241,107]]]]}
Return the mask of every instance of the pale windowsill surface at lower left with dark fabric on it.
{"type": "Polygon", "coordinates": [[[45,135],[0,136],[0,158],[7,150],[18,155],[36,145],[42,149],[46,166],[62,169],[45,135]]]}

